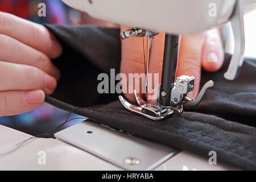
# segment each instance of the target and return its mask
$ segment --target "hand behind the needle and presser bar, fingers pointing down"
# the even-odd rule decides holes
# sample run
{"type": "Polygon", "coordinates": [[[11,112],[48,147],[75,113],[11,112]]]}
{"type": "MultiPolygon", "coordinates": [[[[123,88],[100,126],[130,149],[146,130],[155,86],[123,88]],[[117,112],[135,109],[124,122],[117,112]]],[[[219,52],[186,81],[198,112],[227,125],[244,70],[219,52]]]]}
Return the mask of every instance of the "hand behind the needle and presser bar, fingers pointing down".
{"type": "MultiPolygon", "coordinates": [[[[129,27],[121,26],[121,31],[128,29],[129,27]]],[[[148,88],[148,93],[156,92],[158,84],[161,83],[164,38],[165,34],[160,32],[159,35],[156,35],[155,39],[152,39],[148,73],[159,73],[159,82],[153,81],[151,88],[148,88]]],[[[144,37],[144,52],[147,61],[146,37],[144,37]]],[[[195,87],[193,92],[188,94],[189,97],[195,98],[199,93],[201,67],[205,71],[215,72],[221,68],[223,61],[224,49],[222,47],[220,32],[217,28],[198,34],[180,36],[176,77],[181,75],[195,77],[195,87]]],[[[127,88],[129,86],[136,88],[135,85],[140,84],[140,90],[136,89],[136,91],[142,98],[145,98],[145,94],[141,92],[143,80],[142,82],[137,81],[134,83],[128,76],[129,73],[145,73],[142,38],[132,37],[122,40],[121,73],[125,73],[127,76],[127,83],[122,81],[122,85],[127,84],[127,88]]],[[[154,80],[154,77],[152,80],[154,80]]],[[[147,101],[155,102],[157,94],[153,94],[151,97],[150,95],[147,94],[147,101]]],[[[125,96],[130,101],[135,101],[133,93],[125,93],[125,96]]]]}

